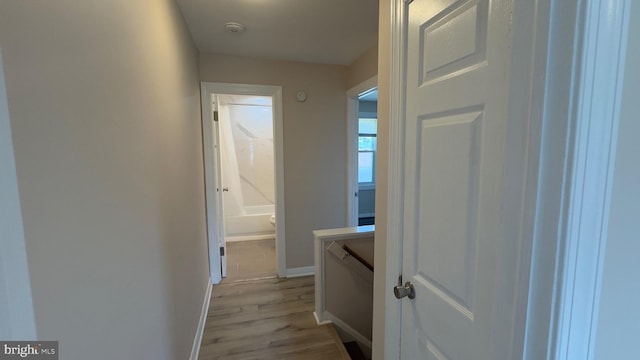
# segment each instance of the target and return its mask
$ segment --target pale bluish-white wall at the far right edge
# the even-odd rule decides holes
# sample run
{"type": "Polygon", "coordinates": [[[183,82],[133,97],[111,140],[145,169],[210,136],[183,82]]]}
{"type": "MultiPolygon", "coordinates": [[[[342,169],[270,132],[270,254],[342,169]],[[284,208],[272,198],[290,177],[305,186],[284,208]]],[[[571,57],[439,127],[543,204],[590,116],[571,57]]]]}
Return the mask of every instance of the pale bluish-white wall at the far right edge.
{"type": "Polygon", "coordinates": [[[631,2],[595,359],[638,356],[640,335],[640,3],[631,2]]]}

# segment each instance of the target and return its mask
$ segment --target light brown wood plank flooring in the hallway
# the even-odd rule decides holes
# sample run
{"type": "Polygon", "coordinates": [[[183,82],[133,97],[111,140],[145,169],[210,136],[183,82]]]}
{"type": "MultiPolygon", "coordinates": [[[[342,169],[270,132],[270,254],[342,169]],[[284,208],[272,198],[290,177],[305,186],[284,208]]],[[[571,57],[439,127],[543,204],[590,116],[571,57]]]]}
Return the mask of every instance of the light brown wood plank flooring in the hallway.
{"type": "Polygon", "coordinates": [[[199,359],[350,359],[313,306],[312,276],[215,285],[199,359]]]}

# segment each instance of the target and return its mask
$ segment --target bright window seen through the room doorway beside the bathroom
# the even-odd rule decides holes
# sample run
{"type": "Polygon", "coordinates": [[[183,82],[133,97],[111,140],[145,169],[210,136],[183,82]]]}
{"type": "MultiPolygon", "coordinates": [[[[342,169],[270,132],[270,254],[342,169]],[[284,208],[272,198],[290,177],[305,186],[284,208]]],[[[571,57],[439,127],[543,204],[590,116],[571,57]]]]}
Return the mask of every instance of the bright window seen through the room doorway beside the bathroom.
{"type": "Polygon", "coordinates": [[[376,179],[378,119],[360,118],[358,121],[358,183],[373,184],[376,179]]]}

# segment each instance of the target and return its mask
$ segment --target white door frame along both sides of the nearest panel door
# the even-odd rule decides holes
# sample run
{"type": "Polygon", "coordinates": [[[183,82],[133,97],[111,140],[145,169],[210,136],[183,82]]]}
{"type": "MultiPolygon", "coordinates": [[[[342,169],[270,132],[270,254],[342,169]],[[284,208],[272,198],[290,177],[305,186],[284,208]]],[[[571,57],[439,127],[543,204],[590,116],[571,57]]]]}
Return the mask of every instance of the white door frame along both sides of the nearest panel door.
{"type": "MultiPolygon", "coordinates": [[[[385,359],[399,359],[401,343],[391,289],[402,272],[404,129],[393,120],[405,115],[406,3],[391,2],[385,359]]],[[[528,126],[508,134],[528,141],[507,160],[527,158],[526,195],[513,200],[523,215],[513,358],[593,357],[628,13],[627,0],[514,0],[511,51],[522,61],[509,70],[509,114],[528,126]]]]}

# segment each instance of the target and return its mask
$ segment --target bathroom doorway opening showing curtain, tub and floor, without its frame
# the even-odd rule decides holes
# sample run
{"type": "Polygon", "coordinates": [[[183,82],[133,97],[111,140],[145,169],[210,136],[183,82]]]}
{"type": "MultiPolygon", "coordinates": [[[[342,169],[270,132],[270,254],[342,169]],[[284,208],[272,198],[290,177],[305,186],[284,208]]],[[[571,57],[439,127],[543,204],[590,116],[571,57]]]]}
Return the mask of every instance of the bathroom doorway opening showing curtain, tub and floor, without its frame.
{"type": "Polygon", "coordinates": [[[227,281],[274,277],[273,98],[218,94],[217,102],[225,277],[227,281]]]}

